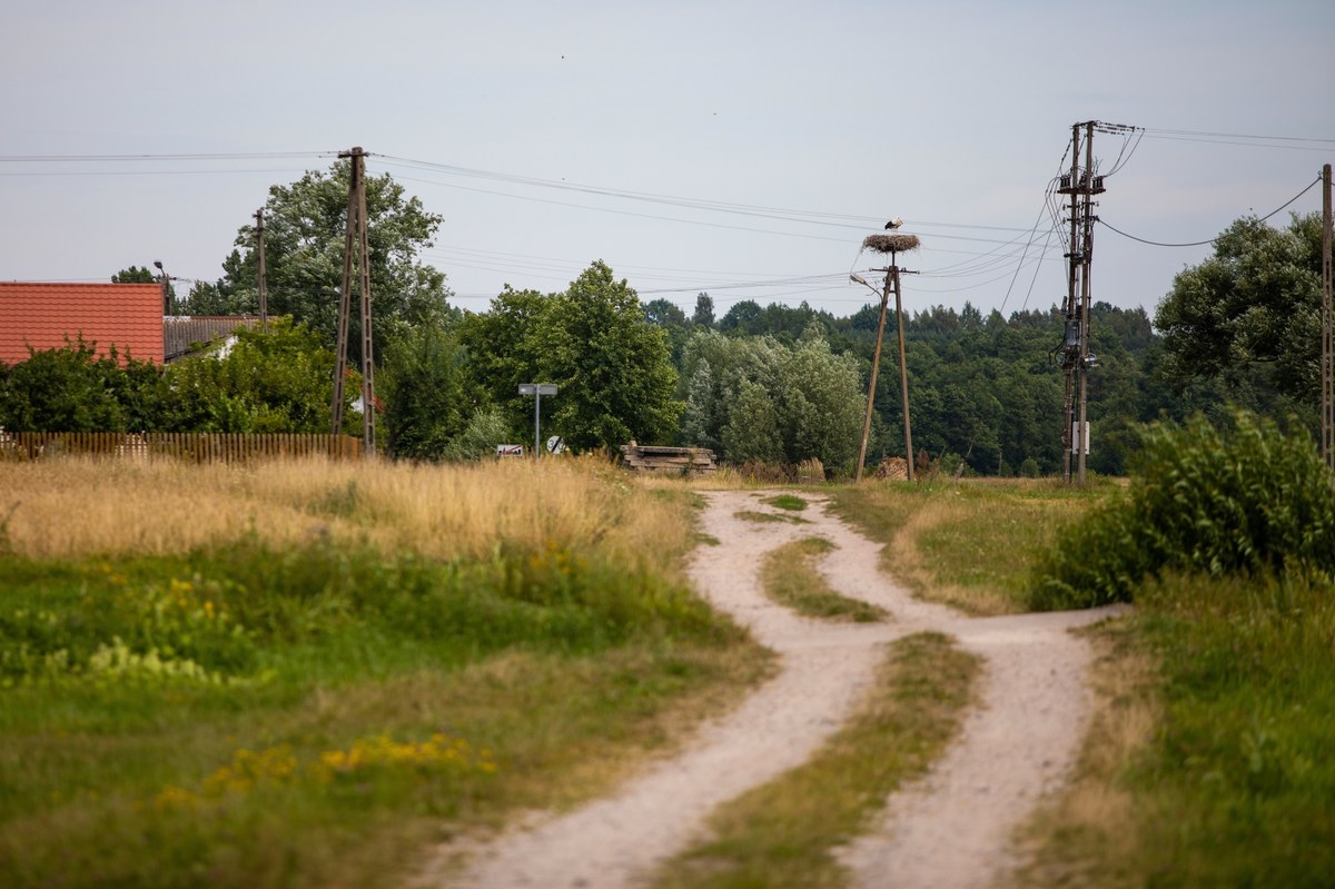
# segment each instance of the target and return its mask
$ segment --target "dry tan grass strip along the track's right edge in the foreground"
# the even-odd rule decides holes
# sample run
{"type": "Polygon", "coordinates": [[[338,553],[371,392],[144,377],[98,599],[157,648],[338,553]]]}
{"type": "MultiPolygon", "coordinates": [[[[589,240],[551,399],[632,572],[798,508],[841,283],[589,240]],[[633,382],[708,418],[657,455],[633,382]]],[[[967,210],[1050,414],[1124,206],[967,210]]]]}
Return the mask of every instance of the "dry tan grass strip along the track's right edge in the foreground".
{"type": "Polygon", "coordinates": [[[1089,729],[1071,781],[1023,829],[1031,864],[1016,873],[1016,886],[1123,889],[1135,882],[1121,862],[1136,857],[1136,818],[1117,776],[1152,739],[1161,707],[1152,694],[1156,662],[1135,649],[1123,626],[1085,631],[1097,653],[1089,729]]]}

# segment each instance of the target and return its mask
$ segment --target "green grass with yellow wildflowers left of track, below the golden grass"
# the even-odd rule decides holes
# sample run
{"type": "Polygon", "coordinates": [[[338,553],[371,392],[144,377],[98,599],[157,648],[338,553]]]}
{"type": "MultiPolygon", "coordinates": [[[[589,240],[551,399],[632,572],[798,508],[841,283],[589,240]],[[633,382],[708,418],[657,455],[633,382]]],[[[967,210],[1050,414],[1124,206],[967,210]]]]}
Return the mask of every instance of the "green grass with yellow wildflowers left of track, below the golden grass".
{"type": "Polygon", "coordinates": [[[684,587],[555,543],[9,555],[0,590],[16,888],[384,884],[446,821],[605,790],[768,669],[684,587]]]}

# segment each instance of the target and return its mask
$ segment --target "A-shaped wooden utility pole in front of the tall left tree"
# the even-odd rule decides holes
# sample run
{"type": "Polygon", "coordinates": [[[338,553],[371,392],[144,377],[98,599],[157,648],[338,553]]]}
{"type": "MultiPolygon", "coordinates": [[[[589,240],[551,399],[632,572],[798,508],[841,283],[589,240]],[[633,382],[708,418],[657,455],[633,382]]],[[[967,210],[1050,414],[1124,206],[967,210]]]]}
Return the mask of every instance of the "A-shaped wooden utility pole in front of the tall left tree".
{"type": "Polygon", "coordinates": [[[347,327],[351,308],[352,254],[358,254],[358,290],[362,295],[362,449],[375,457],[375,364],[371,351],[371,263],[366,232],[366,152],[354,147],[339,152],[351,159],[347,188],[347,232],[343,240],[343,288],[339,294],[338,362],[334,370],[332,427],[343,427],[343,374],[347,371],[347,327]]]}

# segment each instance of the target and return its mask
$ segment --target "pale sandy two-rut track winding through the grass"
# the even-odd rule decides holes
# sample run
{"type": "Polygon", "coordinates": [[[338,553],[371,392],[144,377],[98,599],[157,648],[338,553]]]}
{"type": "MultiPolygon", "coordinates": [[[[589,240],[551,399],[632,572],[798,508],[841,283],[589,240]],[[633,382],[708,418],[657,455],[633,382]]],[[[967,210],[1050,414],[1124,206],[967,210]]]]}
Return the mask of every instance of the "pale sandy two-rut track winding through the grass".
{"type": "MultiPolygon", "coordinates": [[[[634,886],[700,834],[710,810],[805,761],[838,729],[884,657],[884,643],[941,630],[987,659],[983,703],[932,773],[890,797],[882,824],[842,850],[862,886],[981,886],[1011,865],[1009,837],[1068,768],[1084,723],[1089,654],[1071,626],[1108,611],[967,619],[918,602],[878,570],[880,545],[816,501],[810,523],[756,523],[738,510],[764,495],[709,494],[692,579],[717,607],[778,651],[778,675],[685,750],[615,794],[559,817],[530,820],[486,846],[450,886],[634,886]],[[800,537],[836,545],[822,573],[849,597],[881,605],[881,625],[825,623],[776,606],[760,590],[761,557],[800,537]]],[[[814,498],[812,498],[814,499],[814,498]]],[[[449,849],[445,850],[446,853],[449,849]]]]}

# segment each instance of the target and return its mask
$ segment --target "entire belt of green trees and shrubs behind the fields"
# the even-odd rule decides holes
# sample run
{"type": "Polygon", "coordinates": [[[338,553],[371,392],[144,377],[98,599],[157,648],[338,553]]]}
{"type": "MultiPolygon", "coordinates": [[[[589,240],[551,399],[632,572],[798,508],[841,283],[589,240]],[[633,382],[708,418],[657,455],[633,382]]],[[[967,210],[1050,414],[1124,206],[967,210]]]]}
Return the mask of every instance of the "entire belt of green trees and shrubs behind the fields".
{"type": "MultiPolygon", "coordinates": [[[[0,427],[9,430],[328,431],[342,282],[347,162],[274,186],[266,203],[271,315],[215,350],[166,368],[99,356],[73,339],[0,366],[0,427]]],[[[642,303],[594,262],[567,288],[506,287],[487,311],[450,306],[445,275],[419,254],[441,216],[390,176],[367,178],[375,304],[378,428],[396,458],[469,459],[530,440],[522,383],[555,383],[543,426],[577,450],[641,443],[714,449],[733,463],[853,470],[876,342],[877,307],[834,316],[754,300],[716,316],[708,294],[688,315],[642,303]]],[[[1239,404],[1315,427],[1320,227],[1235,222],[1214,255],[1167,283],[1151,318],[1096,303],[1089,376],[1096,473],[1125,471],[1131,430],[1239,404]]],[[[255,232],[238,231],[216,282],[196,282],[183,314],[256,314],[255,232]]],[[[138,280],[129,267],[115,280],[138,280]]],[[[359,300],[351,300],[355,307],[359,300]]],[[[351,320],[356,330],[359,319],[351,320]]],[[[1063,336],[1056,307],[1003,316],[934,306],[905,320],[909,402],[918,461],[984,475],[1060,470],[1063,336]]],[[[358,338],[351,338],[355,359],[358,338]]],[[[893,368],[886,350],[882,367],[893,368]]],[[[868,461],[902,454],[897,372],[873,394],[868,461]]],[[[358,387],[344,386],[348,398],[358,387]]],[[[358,404],[344,408],[359,428],[358,404]]]]}

